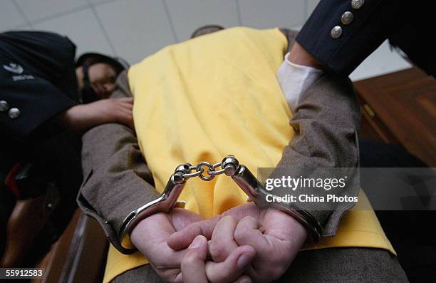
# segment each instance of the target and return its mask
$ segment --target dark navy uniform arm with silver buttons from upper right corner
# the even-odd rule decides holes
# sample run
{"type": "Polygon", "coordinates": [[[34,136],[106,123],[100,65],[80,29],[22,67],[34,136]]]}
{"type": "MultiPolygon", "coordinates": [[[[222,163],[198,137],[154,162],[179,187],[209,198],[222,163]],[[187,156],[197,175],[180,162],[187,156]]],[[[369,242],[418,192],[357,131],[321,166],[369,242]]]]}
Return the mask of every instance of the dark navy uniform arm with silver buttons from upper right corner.
{"type": "Polygon", "coordinates": [[[296,38],[334,73],[348,76],[385,39],[436,76],[436,1],[321,0],[296,38]]]}

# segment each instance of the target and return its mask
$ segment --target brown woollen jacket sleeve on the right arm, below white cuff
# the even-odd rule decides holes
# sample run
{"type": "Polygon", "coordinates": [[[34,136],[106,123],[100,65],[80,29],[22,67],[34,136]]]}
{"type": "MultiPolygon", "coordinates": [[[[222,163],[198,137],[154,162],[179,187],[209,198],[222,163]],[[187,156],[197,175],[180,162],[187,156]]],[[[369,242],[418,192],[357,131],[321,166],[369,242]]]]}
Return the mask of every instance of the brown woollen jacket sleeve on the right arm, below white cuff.
{"type": "MultiPolygon", "coordinates": [[[[281,30],[288,38],[289,48],[295,42],[296,31],[281,30]]],[[[281,78],[286,80],[286,78],[281,78]]],[[[360,108],[353,85],[348,78],[323,73],[317,81],[301,93],[294,116],[289,121],[296,134],[279,164],[269,178],[305,177],[323,180],[346,176],[345,187],[330,190],[314,187],[274,188],[274,195],[324,197],[355,197],[360,190],[358,133],[360,108]]],[[[323,235],[336,234],[341,216],[354,202],[301,202],[296,207],[311,212],[323,226],[323,235]]]]}

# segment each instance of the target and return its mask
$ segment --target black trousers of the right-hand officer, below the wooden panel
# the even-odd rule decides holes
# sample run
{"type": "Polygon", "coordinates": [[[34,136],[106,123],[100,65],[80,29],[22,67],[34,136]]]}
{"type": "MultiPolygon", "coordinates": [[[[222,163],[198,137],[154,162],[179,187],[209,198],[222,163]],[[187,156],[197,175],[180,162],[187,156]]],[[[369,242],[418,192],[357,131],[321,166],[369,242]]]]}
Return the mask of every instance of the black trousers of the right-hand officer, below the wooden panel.
{"type": "MultiPolygon", "coordinates": [[[[360,141],[360,167],[362,168],[426,168],[404,148],[375,141],[360,141]]],[[[371,178],[360,174],[363,190],[371,178]]],[[[369,200],[372,195],[367,192],[369,200]]],[[[386,236],[398,253],[398,261],[410,282],[435,282],[436,238],[430,232],[436,220],[434,210],[375,210],[386,236]],[[407,227],[407,228],[405,228],[407,227]]]]}

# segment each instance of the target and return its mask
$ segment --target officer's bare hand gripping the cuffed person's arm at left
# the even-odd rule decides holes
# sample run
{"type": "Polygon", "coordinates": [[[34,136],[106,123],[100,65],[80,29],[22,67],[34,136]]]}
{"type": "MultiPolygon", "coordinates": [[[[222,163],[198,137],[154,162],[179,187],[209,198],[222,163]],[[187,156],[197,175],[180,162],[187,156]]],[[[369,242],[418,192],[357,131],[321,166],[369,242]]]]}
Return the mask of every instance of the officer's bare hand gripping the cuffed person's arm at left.
{"type": "Polygon", "coordinates": [[[105,123],[121,123],[133,128],[133,98],[109,98],[73,106],[63,113],[72,130],[83,131],[105,123]]]}

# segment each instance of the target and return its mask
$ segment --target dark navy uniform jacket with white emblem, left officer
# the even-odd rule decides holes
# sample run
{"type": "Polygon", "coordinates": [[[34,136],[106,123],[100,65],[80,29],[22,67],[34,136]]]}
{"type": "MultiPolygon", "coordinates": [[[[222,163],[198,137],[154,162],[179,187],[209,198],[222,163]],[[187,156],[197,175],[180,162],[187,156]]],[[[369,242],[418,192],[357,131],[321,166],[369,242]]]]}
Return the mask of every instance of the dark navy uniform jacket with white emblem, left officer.
{"type": "Polygon", "coordinates": [[[78,103],[75,55],[76,46],[58,34],[0,34],[0,133],[4,137],[26,140],[78,103]]]}

